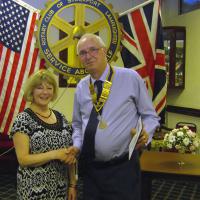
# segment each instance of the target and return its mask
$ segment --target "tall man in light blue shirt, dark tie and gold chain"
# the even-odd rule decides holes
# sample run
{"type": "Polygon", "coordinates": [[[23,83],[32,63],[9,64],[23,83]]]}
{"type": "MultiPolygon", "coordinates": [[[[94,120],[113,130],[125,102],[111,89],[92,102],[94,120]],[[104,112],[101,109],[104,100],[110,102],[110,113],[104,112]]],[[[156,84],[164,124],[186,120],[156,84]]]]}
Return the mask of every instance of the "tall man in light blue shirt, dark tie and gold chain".
{"type": "Polygon", "coordinates": [[[107,63],[106,46],[99,36],[83,35],[77,53],[89,73],[77,85],[72,122],[74,150],[80,151],[84,168],[84,200],[139,200],[137,149],[151,141],[159,126],[145,83],[134,70],[107,63]],[[102,93],[97,92],[96,80],[102,81],[102,93]],[[143,131],[129,160],[131,132],[140,116],[143,131]],[[88,137],[94,137],[94,153],[88,137]]]}

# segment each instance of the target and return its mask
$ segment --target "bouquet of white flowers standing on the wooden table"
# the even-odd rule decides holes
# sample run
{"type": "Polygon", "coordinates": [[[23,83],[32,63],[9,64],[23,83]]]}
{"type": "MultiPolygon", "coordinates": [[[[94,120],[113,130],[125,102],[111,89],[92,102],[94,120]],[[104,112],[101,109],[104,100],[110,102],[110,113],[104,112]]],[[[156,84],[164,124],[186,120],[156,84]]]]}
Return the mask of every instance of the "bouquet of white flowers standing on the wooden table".
{"type": "Polygon", "coordinates": [[[200,146],[200,139],[197,133],[192,132],[187,126],[173,129],[165,134],[163,147],[170,151],[179,153],[196,153],[200,146]]]}

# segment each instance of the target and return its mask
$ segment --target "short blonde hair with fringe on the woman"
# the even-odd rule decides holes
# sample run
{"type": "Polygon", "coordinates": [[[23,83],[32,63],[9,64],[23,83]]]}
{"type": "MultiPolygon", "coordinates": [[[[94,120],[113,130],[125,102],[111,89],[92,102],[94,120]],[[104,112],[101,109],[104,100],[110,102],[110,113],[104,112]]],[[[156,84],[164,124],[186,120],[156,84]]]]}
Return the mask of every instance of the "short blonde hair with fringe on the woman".
{"type": "Polygon", "coordinates": [[[58,85],[54,78],[54,75],[47,69],[41,69],[32,74],[25,83],[24,98],[26,101],[33,102],[33,90],[40,85],[43,81],[53,86],[53,98],[54,101],[58,96],[58,85]]]}

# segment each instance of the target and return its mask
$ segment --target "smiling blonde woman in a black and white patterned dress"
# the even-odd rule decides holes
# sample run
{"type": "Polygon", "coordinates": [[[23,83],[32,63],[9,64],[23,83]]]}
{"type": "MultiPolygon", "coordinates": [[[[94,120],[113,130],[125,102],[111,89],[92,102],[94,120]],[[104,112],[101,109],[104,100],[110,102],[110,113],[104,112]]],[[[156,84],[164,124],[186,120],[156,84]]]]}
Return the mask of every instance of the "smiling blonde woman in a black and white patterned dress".
{"type": "Polygon", "coordinates": [[[26,83],[24,98],[30,106],[18,114],[11,130],[19,162],[17,199],[66,200],[67,193],[68,200],[76,199],[76,159],[67,148],[71,126],[49,108],[57,93],[56,80],[45,69],[26,83]]]}

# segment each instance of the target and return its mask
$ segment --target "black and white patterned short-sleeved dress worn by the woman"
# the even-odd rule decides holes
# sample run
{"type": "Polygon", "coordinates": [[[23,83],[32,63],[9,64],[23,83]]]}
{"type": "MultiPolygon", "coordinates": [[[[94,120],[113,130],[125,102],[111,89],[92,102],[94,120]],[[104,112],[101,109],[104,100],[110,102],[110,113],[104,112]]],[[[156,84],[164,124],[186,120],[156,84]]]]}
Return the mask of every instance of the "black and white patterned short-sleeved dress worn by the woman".
{"type": "MultiPolygon", "coordinates": [[[[57,123],[47,124],[29,108],[19,113],[11,130],[27,134],[30,153],[43,153],[72,143],[70,124],[64,116],[53,110],[57,123]]],[[[17,172],[17,199],[19,200],[66,200],[67,165],[59,160],[50,161],[39,167],[20,167],[17,172]]]]}

